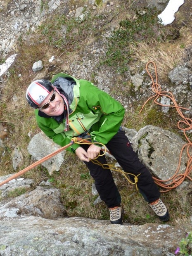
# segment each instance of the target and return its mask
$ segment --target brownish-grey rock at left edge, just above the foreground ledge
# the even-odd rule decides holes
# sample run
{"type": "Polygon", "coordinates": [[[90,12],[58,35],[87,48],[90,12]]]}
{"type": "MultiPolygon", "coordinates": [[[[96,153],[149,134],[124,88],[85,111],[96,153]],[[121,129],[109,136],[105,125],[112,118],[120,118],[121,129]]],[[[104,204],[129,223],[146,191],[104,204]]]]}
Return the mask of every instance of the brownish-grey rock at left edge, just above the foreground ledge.
{"type": "Polygon", "coordinates": [[[26,192],[25,194],[12,199],[7,204],[0,204],[0,219],[7,217],[7,209],[9,209],[9,211],[18,209],[18,214],[16,216],[16,213],[14,212],[14,217],[19,217],[19,215],[24,214],[41,216],[47,219],[66,216],[64,206],[60,201],[60,192],[56,188],[47,189],[44,187],[37,187],[31,192],[26,192]]]}

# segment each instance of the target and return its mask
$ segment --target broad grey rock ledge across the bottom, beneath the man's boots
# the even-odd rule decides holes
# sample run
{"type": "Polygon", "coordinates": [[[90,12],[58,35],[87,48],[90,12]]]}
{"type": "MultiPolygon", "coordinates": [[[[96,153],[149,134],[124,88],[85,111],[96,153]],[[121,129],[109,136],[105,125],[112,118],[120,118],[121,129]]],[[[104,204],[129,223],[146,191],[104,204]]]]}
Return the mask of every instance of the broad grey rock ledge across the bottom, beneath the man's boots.
{"type": "Polygon", "coordinates": [[[0,229],[2,256],[172,256],[185,236],[185,227],[158,224],[114,227],[105,220],[47,220],[34,216],[4,219],[0,229]]]}

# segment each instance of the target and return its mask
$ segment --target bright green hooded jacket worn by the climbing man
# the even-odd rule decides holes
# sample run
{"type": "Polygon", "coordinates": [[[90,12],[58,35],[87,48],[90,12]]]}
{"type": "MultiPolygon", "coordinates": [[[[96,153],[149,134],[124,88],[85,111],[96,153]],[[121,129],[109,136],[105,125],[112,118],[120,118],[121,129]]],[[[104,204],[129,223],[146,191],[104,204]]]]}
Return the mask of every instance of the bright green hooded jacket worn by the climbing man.
{"type": "MultiPolygon", "coordinates": [[[[117,133],[124,116],[124,108],[119,102],[110,97],[106,92],[99,90],[89,81],[77,80],[64,73],[53,77],[53,85],[58,79],[72,78],[73,86],[63,88],[67,91],[69,102],[69,130],[64,132],[65,119],[58,123],[54,118],[42,117],[35,110],[36,120],[39,128],[60,146],[71,142],[71,138],[77,137],[89,130],[94,142],[106,144],[117,133]]],[[[56,85],[57,87],[57,85],[56,85]]],[[[74,152],[79,145],[73,144],[67,150],[74,152]]]]}

